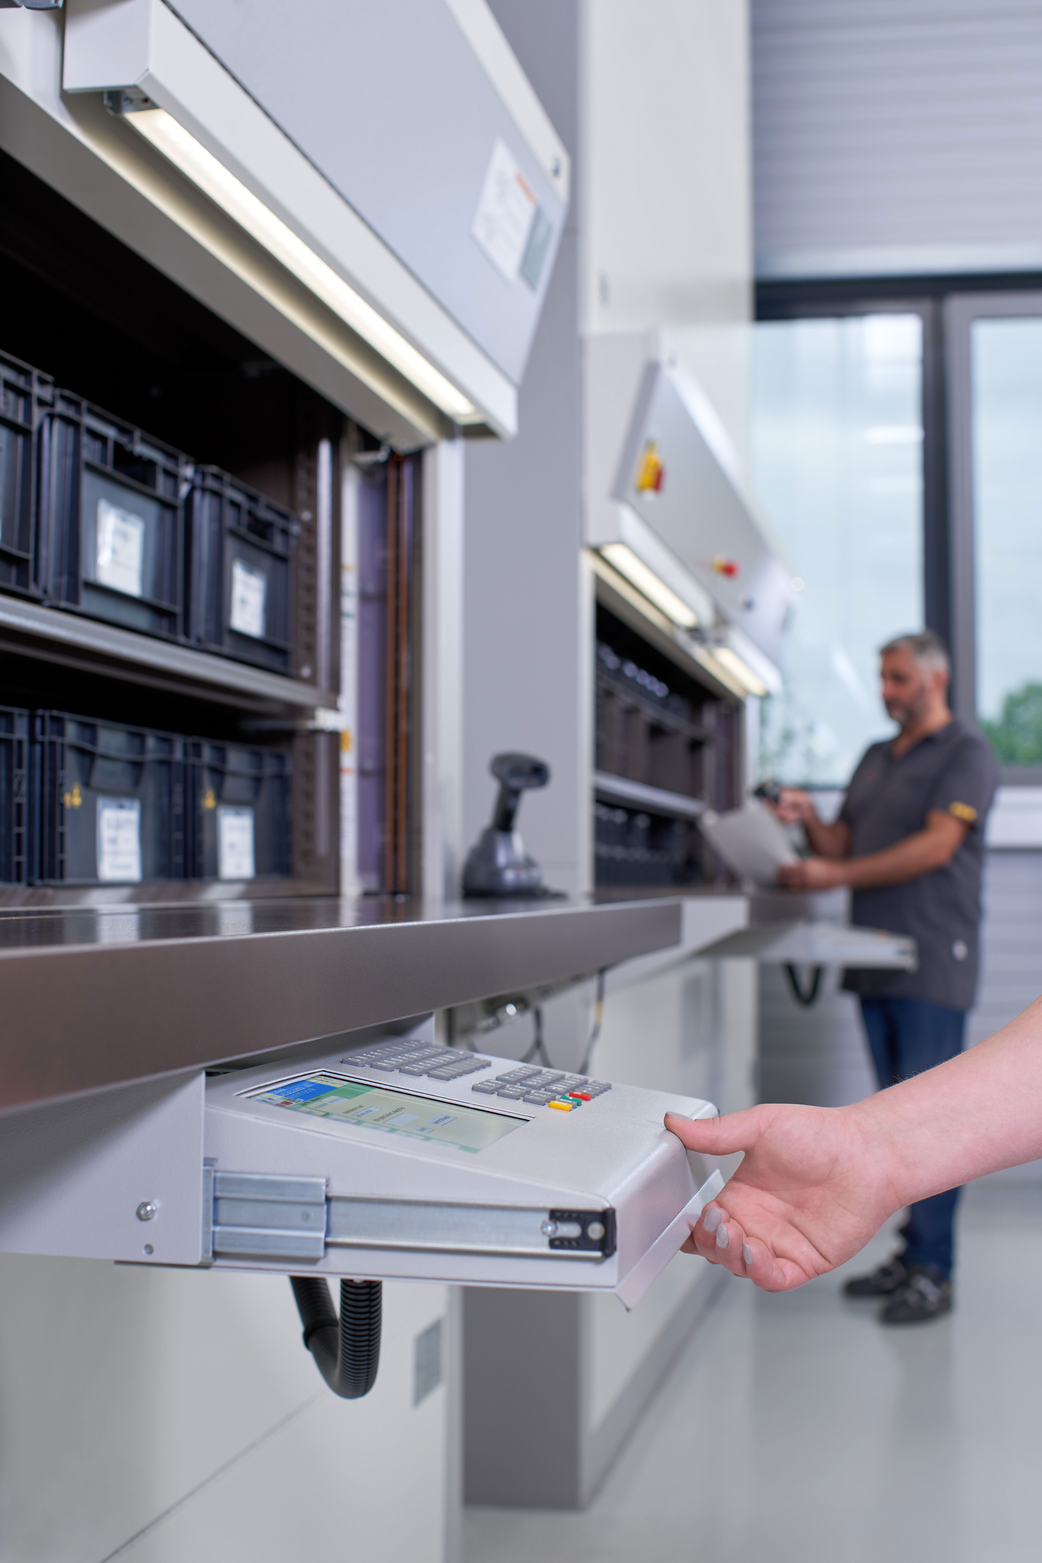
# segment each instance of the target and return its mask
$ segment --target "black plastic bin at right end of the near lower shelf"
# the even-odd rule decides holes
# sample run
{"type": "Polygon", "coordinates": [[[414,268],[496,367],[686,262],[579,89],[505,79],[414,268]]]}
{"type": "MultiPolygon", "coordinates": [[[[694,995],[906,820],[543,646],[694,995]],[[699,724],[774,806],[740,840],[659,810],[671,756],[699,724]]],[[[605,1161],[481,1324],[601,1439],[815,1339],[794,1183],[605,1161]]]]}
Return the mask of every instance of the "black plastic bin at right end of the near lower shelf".
{"type": "Polygon", "coordinates": [[[189,877],[252,880],[291,874],[289,753],[200,738],[186,747],[189,877]]]}

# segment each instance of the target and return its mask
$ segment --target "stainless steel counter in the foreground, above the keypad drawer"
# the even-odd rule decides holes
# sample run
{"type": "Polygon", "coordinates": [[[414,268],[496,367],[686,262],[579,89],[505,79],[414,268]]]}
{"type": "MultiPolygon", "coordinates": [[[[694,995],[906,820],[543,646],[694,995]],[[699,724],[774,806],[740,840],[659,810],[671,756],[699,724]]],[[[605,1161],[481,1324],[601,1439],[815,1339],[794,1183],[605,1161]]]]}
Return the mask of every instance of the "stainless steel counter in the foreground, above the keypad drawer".
{"type": "Polygon", "coordinates": [[[277,1052],[675,946],[676,899],[0,914],[0,1110],[277,1052]]]}

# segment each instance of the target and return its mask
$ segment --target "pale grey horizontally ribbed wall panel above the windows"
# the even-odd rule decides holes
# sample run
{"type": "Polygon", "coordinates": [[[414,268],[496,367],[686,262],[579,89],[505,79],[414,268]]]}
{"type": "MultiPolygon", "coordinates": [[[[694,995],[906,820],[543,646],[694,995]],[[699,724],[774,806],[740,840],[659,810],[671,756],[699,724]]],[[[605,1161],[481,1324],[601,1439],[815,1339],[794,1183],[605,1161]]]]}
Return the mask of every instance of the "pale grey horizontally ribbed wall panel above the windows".
{"type": "Polygon", "coordinates": [[[753,0],[761,277],[1042,266],[1042,9],[753,0]]]}

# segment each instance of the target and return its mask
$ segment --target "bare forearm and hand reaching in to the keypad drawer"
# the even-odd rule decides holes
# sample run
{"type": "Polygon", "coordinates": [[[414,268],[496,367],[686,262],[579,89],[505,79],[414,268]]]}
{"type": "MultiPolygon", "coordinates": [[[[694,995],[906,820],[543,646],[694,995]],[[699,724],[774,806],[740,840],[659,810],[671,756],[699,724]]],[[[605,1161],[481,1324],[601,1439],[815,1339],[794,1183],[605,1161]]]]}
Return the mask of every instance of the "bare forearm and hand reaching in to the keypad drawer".
{"type": "Polygon", "coordinates": [[[689,1150],[745,1152],[684,1250],[787,1291],[851,1258],[912,1200],[1042,1157],[1042,999],[967,1053],[853,1107],[755,1107],[705,1122],[670,1113],[666,1125],[689,1150]]]}

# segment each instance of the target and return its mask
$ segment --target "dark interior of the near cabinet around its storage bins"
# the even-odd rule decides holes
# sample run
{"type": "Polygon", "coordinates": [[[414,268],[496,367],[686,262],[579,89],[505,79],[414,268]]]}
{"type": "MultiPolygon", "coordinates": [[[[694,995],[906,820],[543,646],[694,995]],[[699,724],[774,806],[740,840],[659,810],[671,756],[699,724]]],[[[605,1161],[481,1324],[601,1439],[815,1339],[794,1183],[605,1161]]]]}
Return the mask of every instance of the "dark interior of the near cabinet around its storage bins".
{"type": "MultiPolygon", "coordinates": [[[[142,436],[223,469],[295,517],[289,671],[316,678],[320,625],[336,624],[339,567],[317,558],[319,444],[339,461],[367,431],[28,169],[0,153],[0,352],[142,436]],[[322,567],[320,567],[322,564],[322,567]],[[322,617],[319,602],[330,594],[322,617]]],[[[334,478],[334,505],[339,480],[334,478]]],[[[339,550],[339,510],[331,544],[339,550]]],[[[48,610],[62,613],[61,608],[48,610]]],[[[87,617],[80,622],[89,625],[87,617]]],[[[328,633],[328,631],[327,631],[328,633]]],[[[336,688],[339,642],[328,647],[336,688]]],[[[287,705],[69,652],[61,636],[5,631],[0,705],[66,711],[187,738],[292,749],[294,878],[336,889],[339,735],[302,731],[287,705]],[[327,883],[328,882],[328,883],[327,883]]]]}

